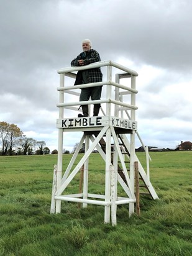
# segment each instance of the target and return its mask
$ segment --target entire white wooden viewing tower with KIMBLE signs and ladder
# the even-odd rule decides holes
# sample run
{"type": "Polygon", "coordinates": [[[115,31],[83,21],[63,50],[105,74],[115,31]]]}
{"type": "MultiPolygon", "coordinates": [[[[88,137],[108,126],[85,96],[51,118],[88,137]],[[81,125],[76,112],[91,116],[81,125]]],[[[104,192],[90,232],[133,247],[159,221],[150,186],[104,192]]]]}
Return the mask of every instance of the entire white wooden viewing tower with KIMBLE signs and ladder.
{"type": "MultiPolygon", "coordinates": [[[[87,66],[70,67],[58,70],[60,74],[60,103],[59,118],[57,119],[58,128],[58,162],[54,168],[53,191],[51,213],[61,212],[61,202],[70,201],[83,203],[83,208],[88,204],[104,206],[104,222],[115,226],[116,211],[119,204],[129,204],[129,215],[134,213],[135,198],[135,162],[138,163],[139,175],[153,199],[158,199],[149,178],[149,154],[147,154],[147,171],[135,154],[135,135],[140,139],[137,132],[137,122],[135,121],[135,78],[137,72],[112,61],[97,62],[87,66]],[[99,83],[73,86],[76,71],[89,68],[106,68],[106,80],[99,83]],[[113,75],[112,72],[116,71],[113,75]],[[73,78],[73,79],[71,79],[73,78]],[[129,80],[129,86],[122,85],[121,79],[129,80]],[[114,80],[114,81],[113,81],[114,80]],[[66,86],[66,83],[70,83],[66,86]],[[101,104],[99,116],[76,117],[80,106],[78,96],[80,88],[90,86],[103,86],[102,99],[99,101],[81,101],[81,105],[101,104]],[[71,102],[65,95],[72,94],[76,101],[71,102]],[[126,102],[124,102],[124,97],[126,102]],[[70,118],[65,118],[64,109],[70,109],[70,118]],[[101,114],[102,112],[102,114],[101,114]],[[82,137],[78,147],[73,153],[70,163],[66,170],[63,170],[63,133],[68,132],[73,136],[74,132],[81,132],[82,137]],[[78,153],[85,143],[85,154],[75,165],[78,153]],[[94,149],[97,149],[105,161],[105,193],[93,194],[89,191],[89,156],[94,149]],[[129,167],[127,167],[129,162],[129,167]],[[83,172],[83,191],[77,194],[66,194],[65,190],[70,185],[75,175],[84,167],[83,172]],[[73,168],[72,168],[73,167],[73,168]],[[127,170],[129,169],[129,171],[127,170]],[[117,184],[124,190],[126,196],[118,196],[117,184]]],[[[68,111],[69,112],[69,111],[68,111]]],[[[144,147],[142,140],[141,144],[144,147]]],[[[145,149],[145,147],[144,147],[145,149]]]]}

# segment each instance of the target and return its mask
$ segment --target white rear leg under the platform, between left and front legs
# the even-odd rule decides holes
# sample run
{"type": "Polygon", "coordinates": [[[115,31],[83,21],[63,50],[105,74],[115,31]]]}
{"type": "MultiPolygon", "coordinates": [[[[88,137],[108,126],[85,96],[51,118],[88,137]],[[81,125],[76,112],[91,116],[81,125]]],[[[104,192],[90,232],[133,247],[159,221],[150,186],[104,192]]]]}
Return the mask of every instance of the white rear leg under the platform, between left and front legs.
{"type": "MultiPolygon", "coordinates": [[[[89,149],[89,135],[85,135],[85,153],[89,149]]],[[[88,198],[88,170],[89,170],[89,158],[84,164],[84,174],[83,174],[83,199],[88,198]]],[[[86,208],[88,204],[83,203],[83,208],[86,208]]]]}

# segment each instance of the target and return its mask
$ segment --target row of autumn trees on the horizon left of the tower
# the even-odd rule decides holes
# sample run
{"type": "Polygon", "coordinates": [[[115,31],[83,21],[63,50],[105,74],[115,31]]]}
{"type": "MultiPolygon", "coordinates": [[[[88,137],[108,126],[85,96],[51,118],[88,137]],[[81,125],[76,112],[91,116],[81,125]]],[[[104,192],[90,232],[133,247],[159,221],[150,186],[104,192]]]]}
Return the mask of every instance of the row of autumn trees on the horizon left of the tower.
{"type": "Polygon", "coordinates": [[[0,155],[49,154],[45,141],[26,137],[16,124],[0,122],[0,155]]]}

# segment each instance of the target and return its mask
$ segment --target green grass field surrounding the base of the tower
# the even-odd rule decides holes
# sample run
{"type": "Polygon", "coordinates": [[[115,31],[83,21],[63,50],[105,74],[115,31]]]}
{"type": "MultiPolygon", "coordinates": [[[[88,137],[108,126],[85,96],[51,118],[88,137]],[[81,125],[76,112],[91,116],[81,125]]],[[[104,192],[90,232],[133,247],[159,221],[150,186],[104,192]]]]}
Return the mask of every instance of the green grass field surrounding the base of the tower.
{"type": "MultiPolygon", "coordinates": [[[[137,155],[145,165],[144,153],[137,155]]],[[[63,202],[61,214],[50,214],[57,155],[0,157],[0,255],[192,255],[192,152],[150,156],[160,199],[140,196],[140,216],[130,218],[129,205],[117,206],[116,227],[104,224],[103,206],[63,202]]],[[[99,193],[104,162],[94,153],[89,165],[89,186],[99,193]]],[[[68,190],[78,183],[76,176],[68,190]]]]}

